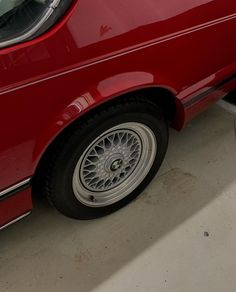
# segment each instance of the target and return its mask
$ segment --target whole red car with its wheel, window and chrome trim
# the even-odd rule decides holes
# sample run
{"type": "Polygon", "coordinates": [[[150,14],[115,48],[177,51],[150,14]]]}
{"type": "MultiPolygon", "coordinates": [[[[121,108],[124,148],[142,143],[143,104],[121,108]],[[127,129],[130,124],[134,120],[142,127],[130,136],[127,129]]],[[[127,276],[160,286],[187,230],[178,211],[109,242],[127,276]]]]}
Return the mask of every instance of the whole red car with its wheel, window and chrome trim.
{"type": "Polygon", "coordinates": [[[32,191],[78,219],[133,200],[168,126],[236,88],[235,33],[235,0],[0,1],[0,228],[32,191]]]}

